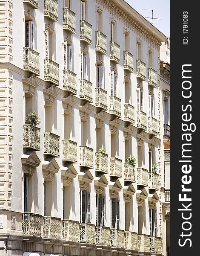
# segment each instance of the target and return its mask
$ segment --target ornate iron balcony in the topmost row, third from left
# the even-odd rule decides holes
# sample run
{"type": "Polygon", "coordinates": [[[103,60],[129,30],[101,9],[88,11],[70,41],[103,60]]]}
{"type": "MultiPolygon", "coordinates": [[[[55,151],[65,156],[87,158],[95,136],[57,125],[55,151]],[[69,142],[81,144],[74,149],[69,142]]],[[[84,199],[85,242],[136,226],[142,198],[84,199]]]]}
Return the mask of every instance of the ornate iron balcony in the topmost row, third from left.
{"type": "Polygon", "coordinates": [[[76,14],[69,8],[63,8],[63,29],[71,34],[76,33],[76,14]]]}

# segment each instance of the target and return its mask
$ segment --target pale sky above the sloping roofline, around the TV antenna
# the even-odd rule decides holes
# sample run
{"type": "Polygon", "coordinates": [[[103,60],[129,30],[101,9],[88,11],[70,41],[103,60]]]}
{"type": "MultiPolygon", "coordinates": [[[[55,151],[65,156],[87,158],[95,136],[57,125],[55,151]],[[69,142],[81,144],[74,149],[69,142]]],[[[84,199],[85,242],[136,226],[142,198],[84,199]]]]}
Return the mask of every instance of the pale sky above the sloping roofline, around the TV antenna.
{"type": "MultiPolygon", "coordinates": [[[[153,17],[160,20],[153,20],[153,25],[164,35],[170,36],[170,0],[125,0],[143,17],[153,17]]],[[[147,19],[151,23],[151,19],[147,19]]]]}

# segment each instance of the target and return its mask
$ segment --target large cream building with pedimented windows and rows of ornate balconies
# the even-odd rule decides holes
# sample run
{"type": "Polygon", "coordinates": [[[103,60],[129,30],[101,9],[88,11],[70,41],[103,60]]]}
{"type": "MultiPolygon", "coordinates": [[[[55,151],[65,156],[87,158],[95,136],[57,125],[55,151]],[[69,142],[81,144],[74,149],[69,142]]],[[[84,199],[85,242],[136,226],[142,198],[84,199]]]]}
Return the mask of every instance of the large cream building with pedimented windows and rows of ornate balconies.
{"type": "Polygon", "coordinates": [[[165,41],[123,0],[0,0],[0,256],[165,253],[165,41]]]}

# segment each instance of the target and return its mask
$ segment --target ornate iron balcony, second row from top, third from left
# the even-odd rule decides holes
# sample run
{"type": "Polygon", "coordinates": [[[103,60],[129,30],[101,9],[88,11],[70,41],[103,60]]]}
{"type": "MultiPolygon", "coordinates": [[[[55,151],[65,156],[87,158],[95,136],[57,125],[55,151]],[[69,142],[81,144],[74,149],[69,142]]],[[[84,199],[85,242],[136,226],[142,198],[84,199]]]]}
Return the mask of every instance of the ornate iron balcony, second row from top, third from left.
{"type": "Polygon", "coordinates": [[[77,75],[71,70],[63,70],[63,90],[70,94],[77,93],[77,75]]]}

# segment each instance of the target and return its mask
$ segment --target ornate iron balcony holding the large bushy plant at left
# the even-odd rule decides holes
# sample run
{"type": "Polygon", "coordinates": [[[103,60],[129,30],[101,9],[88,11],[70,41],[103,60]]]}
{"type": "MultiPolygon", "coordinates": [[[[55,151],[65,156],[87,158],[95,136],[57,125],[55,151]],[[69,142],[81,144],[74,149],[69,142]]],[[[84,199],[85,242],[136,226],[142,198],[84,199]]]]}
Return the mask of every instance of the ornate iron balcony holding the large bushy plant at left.
{"type": "Polygon", "coordinates": [[[40,128],[34,125],[23,125],[23,148],[40,150],[40,128]]]}

